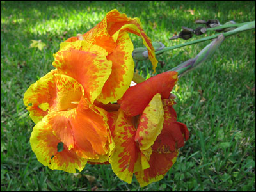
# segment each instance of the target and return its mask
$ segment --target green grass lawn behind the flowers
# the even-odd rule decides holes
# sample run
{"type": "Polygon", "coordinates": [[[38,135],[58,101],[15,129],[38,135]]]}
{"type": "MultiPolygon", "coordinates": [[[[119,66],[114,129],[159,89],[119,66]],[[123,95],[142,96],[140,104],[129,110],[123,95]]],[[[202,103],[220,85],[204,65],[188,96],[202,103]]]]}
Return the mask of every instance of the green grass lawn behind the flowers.
{"type": "MultiPolygon", "coordinates": [[[[111,166],[87,164],[78,175],[50,170],[29,145],[33,122],[23,104],[29,85],[52,68],[63,40],[85,33],[116,8],[139,17],[152,40],[169,41],[194,19],[255,20],[255,1],[1,1],[1,191],[255,191],[255,30],[227,38],[211,59],[182,77],[173,93],[178,120],[190,139],[159,182],[140,188],[118,179],[111,166]],[[42,40],[42,50],[30,48],[42,40]],[[254,88],[254,90],[253,90],[254,88]],[[85,175],[95,177],[89,182],[85,175]]],[[[135,47],[142,41],[131,35],[135,47]]],[[[194,40],[198,37],[194,37],[194,40]]],[[[209,42],[157,56],[157,73],[193,58],[209,42]]],[[[148,61],[137,69],[152,74],[148,61]]],[[[159,162],[161,163],[161,162],[159,162]]]]}

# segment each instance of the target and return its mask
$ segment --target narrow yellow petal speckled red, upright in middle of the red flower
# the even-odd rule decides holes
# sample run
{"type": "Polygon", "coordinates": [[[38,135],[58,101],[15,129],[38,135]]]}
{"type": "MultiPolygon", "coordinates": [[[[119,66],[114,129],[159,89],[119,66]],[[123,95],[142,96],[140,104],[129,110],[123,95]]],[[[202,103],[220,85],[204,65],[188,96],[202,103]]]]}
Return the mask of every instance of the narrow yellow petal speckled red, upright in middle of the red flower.
{"type": "Polygon", "coordinates": [[[164,111],[161,95],[157,93],[140,116],[135,141],[142,152],[142,168],[148,168],[151,147],[163,129],[164,111]]]}

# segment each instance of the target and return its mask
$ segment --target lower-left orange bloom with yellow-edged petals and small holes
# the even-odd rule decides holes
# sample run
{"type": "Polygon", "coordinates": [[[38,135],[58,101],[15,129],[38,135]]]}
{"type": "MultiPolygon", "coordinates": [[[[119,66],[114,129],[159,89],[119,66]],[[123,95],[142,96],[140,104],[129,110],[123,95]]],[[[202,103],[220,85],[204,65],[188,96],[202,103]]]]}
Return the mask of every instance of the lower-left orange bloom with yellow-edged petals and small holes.
{"type": "Polygon", "coordinates": [[[108,160],[113,143],[107,113],[90,103],[75,79],[52,70],[31,84],[24,104],[36,123],[31,148],[44,166],[76,173],[88,159],[108,160]]]}

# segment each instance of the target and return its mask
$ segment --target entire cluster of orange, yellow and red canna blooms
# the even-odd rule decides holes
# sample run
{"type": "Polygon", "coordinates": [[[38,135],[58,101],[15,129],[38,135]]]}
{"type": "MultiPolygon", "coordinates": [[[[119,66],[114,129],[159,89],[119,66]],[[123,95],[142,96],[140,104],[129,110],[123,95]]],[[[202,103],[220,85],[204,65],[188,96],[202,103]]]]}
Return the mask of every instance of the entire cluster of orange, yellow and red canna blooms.
{"type": "Polygon", "coordinates": [[[164,72],[131,86],[140,36],[155,71],[150,38],[138,18],[117,10],[83,35],[68,38],[54,54],[51,70],[24,95],[35,127],[30,143],[40,163],[75,173],[86,163],[110,163],[131,183],[146,186],[164,177],[188,140],[177,122],[172,94],[177,72],[164,72]]]}

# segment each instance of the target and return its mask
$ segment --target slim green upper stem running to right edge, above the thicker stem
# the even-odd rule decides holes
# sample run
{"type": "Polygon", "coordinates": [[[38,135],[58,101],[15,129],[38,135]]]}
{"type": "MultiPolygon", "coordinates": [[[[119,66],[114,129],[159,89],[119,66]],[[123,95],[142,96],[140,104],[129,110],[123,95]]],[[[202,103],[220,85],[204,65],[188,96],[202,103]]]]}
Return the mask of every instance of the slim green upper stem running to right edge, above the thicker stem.
{"type": "MultiPolygon", "coordinates": [[[[227,25],[228,26],[228,25],[227,25]]],[[[226,27],[225,27],[226,28],[226,27]]],[[[226,33],[218,33],[216,35],[212,35],[212,36],[207,36],[207,37],[204,37],[204,38],[200,38],[198,40],[194,40],[194,41],[191,41],[191,42],[187,42],[185,44],[180,44],[180,45],[175,45],[175,46],[172,46],[172,47],[165,47],[164,49],[162,49],[161,51],[157,51],[155,52],[156,55],[157,54],[161,54],[163,53],[164,51],[170,51],[172,49],[177,49],[179,47],[185,47],[185,46],[188,46],[188,45],[193,45],[193,44],[197,44],[199,42],[205,42],[207,40],[212,40],[214,38],[217,38],[217,36],[223,34],[225,37],[227,36],[230,36],[230,35],[235,35],[237,33],[240,33],[242,31],[247,31],[247,30],[250,30],[250,29],[253,29],[255,28],[255,20],[252,21],[252,22],[246,22],[246,24],[243,24],[242,26],[232,30],[232,31],[228,31],[226,33]]],[[[212,28],[213,29],[213,28],[212,28]]]]}

